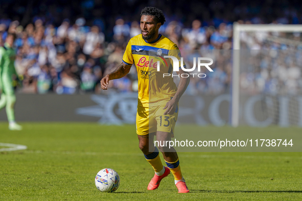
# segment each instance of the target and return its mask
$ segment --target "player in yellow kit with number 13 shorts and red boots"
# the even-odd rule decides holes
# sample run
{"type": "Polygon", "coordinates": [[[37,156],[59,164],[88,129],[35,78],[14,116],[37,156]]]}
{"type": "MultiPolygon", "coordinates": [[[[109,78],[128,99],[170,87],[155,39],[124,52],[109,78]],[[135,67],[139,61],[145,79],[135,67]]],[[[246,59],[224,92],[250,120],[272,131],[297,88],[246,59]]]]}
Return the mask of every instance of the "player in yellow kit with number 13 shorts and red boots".
{"type": "MultiPolygon", "coordinates": [[[[160,65],[160,71],[156,69],[159,67],[156,62],[159,58],[165,55],[180,56],[177,45],[158,34],[158,29],[165,21],[164,14],[157,8],[146,7],[142,10],[142,34],[130,39],[122,64],[101,80],[101,88],[106,90],[110,80],[124,77],[132,64],[135,64],[138,73],[136,133],[140,149],[155,171],[147,189],[157,189],[160,181],[172,172],[178,192],[188,193],[190,191],[182,177],[175,149],[158,145],[168,166],[165,167],[161,163],[157,147],[153,144],[154,135],[157,141],[171,140],[171,137],[174,137],[178,101],[190,82],[189,78],[180,78],[177,88],[171,76],[163,77],[164,73],[173,73],[170,59],[165,59],[169,65],[160,65]]],[[[184,73],[184,71],[179,69],[177,73],[184,73]]]]}

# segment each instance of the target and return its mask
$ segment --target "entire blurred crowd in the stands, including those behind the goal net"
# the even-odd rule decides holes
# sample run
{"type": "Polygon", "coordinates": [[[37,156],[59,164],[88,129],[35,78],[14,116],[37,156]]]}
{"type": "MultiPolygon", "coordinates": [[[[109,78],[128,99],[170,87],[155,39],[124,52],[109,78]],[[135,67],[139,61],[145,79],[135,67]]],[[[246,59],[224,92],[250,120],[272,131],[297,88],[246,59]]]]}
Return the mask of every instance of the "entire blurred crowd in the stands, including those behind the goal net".
{"type": "MultiPolygon", "coordinates": [[[[80,4],[67,0],[60,4],[28,5],[24,2],[14,8],[14,2],[0,5],[0,45],[3,45],[8,32],[17,34],[15,66],[24,77],[24,87],[20,90],[24,93],[106,93],[99,90],[99,81],[122,63],[128,40],[141,34],[137,8],[146,6],[145,3],[137,3],[134,7],[119,0],[106,3],[80,1],[80,4]],[[78,5],[81,5],[80,9],[78,5]],[[42,11],[45,6],[50,7],[47,12],[42,11]]],[[[302,7],[298,2],[252,0],[252,7],[249,2],[238,5],[225,0],[177,4],[170,1],[165,2],[165,7],[160,1],[155,1],[152,5],[163,8],[166,15],[167,21],[160,28],[162,35],[180,49],[200,49],[204,56],[214,58],[214,72],[204,79],[192,79],[187,93],[229,91],[230,56],[213,50],[232,48],[231,24],[234,21],[246,24],[302,23],[299,14],[302,7]],[[170,9],[172,7],[175,12],[170,9]]],[[[302,53],[289,51],[302,49],[300,33],[241,32],[240,39],[241,49],[252,50],[250,57],[244,60],[245,71],[240,77],[244,91],[302,91],[299,79],[302,53]],[[294,42],[287,44],[275,40],[275,37],[294,42]],[[260,49],[287,49],[288,52],[270,51],[267,54],[260,49]]],[[[191,57],[194,52],[185,54],[191,57]]],[[[188,65],[193,66],[192,63],[188,65]]],[[[136,69],[132,67],[127,77],[112,82],[109,87],[121,92],[137,90],[136,69]]]]}

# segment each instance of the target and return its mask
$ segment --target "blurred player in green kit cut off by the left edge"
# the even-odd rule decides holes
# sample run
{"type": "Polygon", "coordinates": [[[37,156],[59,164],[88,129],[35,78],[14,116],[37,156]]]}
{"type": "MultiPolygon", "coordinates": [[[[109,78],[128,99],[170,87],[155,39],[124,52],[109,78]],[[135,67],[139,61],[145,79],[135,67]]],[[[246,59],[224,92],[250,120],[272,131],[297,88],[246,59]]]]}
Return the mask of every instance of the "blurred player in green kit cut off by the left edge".
{"type": "Polygon", "coordinates": [[[9,129],[13,131],[22,130],[21,125],[17,124],[14,115],[14,105],[16,96],[12,86],[12,76],[17,77],[15,62],[15,51],[12,48],[15,40],[15,34],[9,33],[5,44],[0,47],[0,110],[6,106],[6,114],[9,121],[9,129]]]}

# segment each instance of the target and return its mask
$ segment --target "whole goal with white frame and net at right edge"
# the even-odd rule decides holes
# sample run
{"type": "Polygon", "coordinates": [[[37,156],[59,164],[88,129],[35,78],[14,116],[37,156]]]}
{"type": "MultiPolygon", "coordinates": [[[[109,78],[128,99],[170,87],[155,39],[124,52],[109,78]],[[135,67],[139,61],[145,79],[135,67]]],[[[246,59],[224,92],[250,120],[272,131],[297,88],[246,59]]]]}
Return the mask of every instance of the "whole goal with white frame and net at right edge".
{"type": "Polygon", "coordinates": [[[302,127],[302,26],[234,24],[231,123],[302,127]]]}

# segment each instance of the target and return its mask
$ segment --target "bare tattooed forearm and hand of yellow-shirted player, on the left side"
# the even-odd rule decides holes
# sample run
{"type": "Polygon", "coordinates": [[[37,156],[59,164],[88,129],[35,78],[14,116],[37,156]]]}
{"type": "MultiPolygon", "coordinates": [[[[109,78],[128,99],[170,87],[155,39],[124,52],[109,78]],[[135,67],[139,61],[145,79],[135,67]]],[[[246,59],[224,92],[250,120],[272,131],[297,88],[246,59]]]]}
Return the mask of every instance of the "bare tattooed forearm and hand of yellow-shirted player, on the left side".
{"type": "Polygon", "coordinates": [[[105,76],[101,80],[101,88],[104,90],[107,90],[109,80],[123,78],[124,76],[126,76],[126,74],[128,74],[131,66],[132,65],[127,65],[123,62],[121,65],[119,65],[119,67],[117,69],[115,69],[113,72],[110,72],[109,74],[107,74],[107,76],[105,76]]]}

